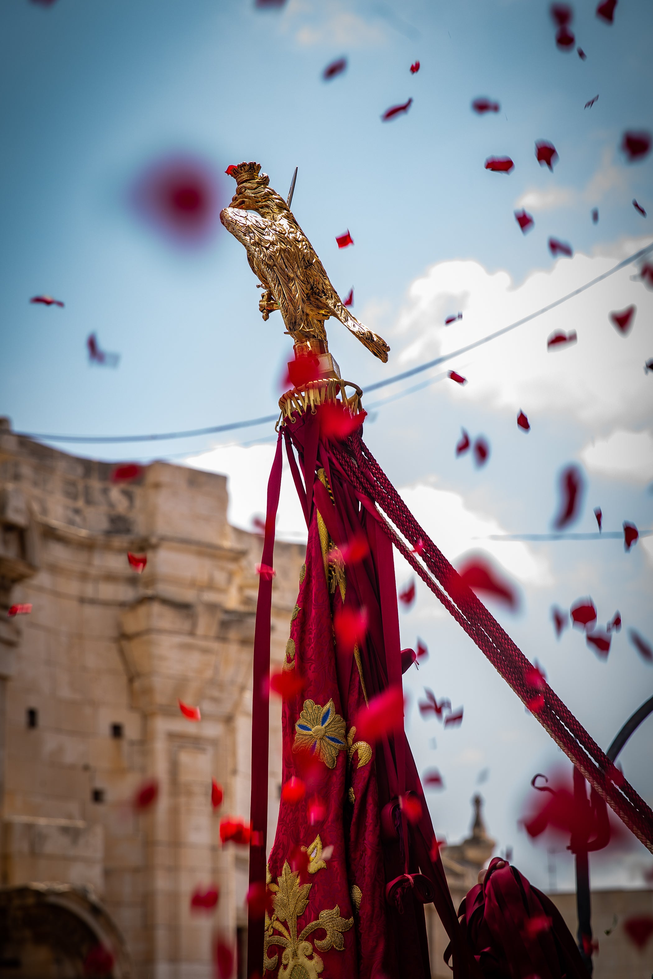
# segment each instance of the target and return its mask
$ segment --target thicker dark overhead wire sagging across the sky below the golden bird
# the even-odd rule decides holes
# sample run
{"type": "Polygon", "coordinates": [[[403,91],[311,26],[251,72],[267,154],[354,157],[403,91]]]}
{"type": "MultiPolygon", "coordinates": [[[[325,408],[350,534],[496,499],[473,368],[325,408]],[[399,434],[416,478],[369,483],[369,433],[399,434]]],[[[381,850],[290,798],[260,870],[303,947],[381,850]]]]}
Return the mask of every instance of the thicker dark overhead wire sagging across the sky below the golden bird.
{"type": "MultiPolygon", "coordinates": [[[[647,245],[646,248],[640,249],[628,258],[624,258],[613,268],[608,269],[607,272],[603,272],[598,275],[591,282],[586,282],[583,286],[575,289],[573,292],[568,293],[566,296],[562,296],[559,300],[555,300],[553,303],[542,306],[541,309],[537,309],[536,312],[530,313],[528,316],[524,316],[523,319],[518,319],[515,323],[510,323],[509,326],[504,326],[500,330],[496,330],[494,333],[490,333],[487,337],[482,337],[481,340],[475,341],[473,344],[468,344],[467,347],[461,347],[459,350],[452,350],[450,353],[444,353],[440,357],[436,357],[434,360],[429,360],[427,363],[419,364],[417,367],[411,367],[410,370],[404,370],[400,374],[395,374],[393,377],[387,377],[383,381],[376,381],[374,384],[369,384],[363,389],[363,393],[367,394],[370,391],[378,391],[379,388],[385,388],[390,384],[395,384],[396,381],[403,381],[407,377],[413,377],[415,374],[420,374],[422,371],[430,370],[431,367],[437,367],[438,364],[444,363],[445,360],[451,360],[453,357],[460,356],[462,353],[467,353],[468,350],[476,350],[477,347],[482,347],[484,344],[489,344],[490,340],[496,340],[497,337],[502,337],[504,333],[509,333],[510,330],[516,330],[518,326],[523,326],[524,323],[529,323],[531,320],[536,319],[537,316],[543,315],[543,313],[548,312],[550,309],[555,309],[556,306],[562,303],[567,303],[568,300],[574,299],[575,296],[580,296],[581,293],[585,292],[587,289],[591,289],[598,282],[602,282],[607,279],[610,275],[614,275],[615,272],[619,272],[622,268],[626,268],[627,265],[632,264],[634,261],[638,261],[639,258],[648,255],[649,252],[653,251],[653,243],[647,245]]],[[[419,390],[416,388],[415,390],[419,390]]],[[[370,405],[372,407],[372,405],[370,405]]],[[[110,436],[82,436],[82,435],[43,435],[42,433],[35,432],[17,432],[17,435],[23,435],[27,439],[41,439],[44,442],[81,442],[81,443],[119,443],[119,442],[157,442],[164,441],[166,439],[191,439],[195,436],[200,435],[213,435],[217,432],[232,432],[234,429],[240,428],[250,428],[255,425],[265,425],[269,422],[276,421],[278,414],[265,415],[263,418],[250,418],[246,421],[241,422],[231,422],[228,425],[213,425],[210,428],[204,429],[191,429],[187,432],[165,432],[158,435],[110,435],[110,436]]]]}

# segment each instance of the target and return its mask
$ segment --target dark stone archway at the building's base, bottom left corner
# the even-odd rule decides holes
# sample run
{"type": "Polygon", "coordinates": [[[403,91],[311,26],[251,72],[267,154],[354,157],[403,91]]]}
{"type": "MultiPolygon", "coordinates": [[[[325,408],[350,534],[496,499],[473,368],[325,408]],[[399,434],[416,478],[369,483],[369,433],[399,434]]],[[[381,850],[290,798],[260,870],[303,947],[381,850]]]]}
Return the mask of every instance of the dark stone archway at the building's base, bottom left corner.
{"type": "Polygon", "coordinates": [[[131,979],[133,968],[116,922],[88,888],[38,883],[0,888],[0,973],[131,979]]]}

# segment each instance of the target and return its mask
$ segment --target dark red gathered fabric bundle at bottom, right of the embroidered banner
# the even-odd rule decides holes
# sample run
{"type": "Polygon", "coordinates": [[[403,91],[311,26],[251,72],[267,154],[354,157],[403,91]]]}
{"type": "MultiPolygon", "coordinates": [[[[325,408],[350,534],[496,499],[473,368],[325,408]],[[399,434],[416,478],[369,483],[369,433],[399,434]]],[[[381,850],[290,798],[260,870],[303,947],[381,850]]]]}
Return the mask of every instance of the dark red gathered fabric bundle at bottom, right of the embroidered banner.
{"type": "MultiPolygon", "coordinates": [[[[488,979],[587,979],[560,911],[517,867],[495,857],[458,914],[488,979]]],[[[444,960],[450,957],[450,947],[444,960]]]]}

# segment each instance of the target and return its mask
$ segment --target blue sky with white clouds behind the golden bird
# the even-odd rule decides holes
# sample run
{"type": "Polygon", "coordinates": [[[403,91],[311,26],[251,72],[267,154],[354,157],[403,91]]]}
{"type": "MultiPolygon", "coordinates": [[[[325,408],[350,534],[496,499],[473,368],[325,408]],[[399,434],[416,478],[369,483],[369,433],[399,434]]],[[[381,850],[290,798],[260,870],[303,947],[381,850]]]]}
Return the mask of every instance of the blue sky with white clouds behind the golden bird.
{"type": "MultiPolygon", "coordinates": [[[[266,11],[251,0],[3,4],[0,412],[19,431],[89,435],[274,412],[288,338],[276,314],[260,319],[242,248],[218,225],[202,247],[182,249],[130,205],[138,176],[171,154],[210,167],[220,206],[233,193],[223,173],[229,163],[257,160],[283,194],[299,166],[293,210],[303,230],[336,289],[344,296],[354,287],[353,311],[392,348],[384,366],[340,324],[328,325],[344,375],[363,387],[464,346],[653,242],[653,217],[631,205],[636,198],[653,214],[653,156],[629,164],[619,150],[624,130],[653,129],[653,9],[621,0],[612,25],[596,19],[588,0],[574,10],[584,62],[557,50],[548,5],[535,0],[288,0],[266,11]],[[341,56],[347,71],[323,82],[324,66],[341,56]],[[415,59],[421,68],[411,75],[415,59]],[[501,111],[475,115],[477,96],[498,100],[501,111]],[[408,97],[406,116],[381,122],[408,97]],[[536,162],[540,139],[559,154],[553,173],[536,162]],[[502,155],[514,161],[512,173],[485,170],[487,157],[502,155]],[[536,221],[527,235],[513,216],[524,206],[536,221]],[[335,236],[347,228],[355,244],[339,252],[335,236]],[[552,258],[550,235],[570,242],[574,258],[552,258]],[[30,305],[38,293],[65,308],[30,305]],[[459,309],[462,321],[445,328],[459,309]],[[117,369],[88,363],[91,332],[119,351],[117,369]]],[[[623,520],[653,526],[653,374],[643,370],[653,356],[653,294],[631,280],[636,271],[447,364],[468,378],[464,388],[437,381],[375,409],[365,428],[447,557],[483,546],[520,584],[521,613],[496,610],[499,619],[603,747],[653,692],[653,670],[626,635],[632,626],[653,641],[651,538],[630,554],[620,541],[487,538],[545,533],[557,474],[572,461],[587,481],[577,530],[593,530],[595,505],[610,530],[623,520]],[[630,303],[637,312],[624,338],[608,313],[630,303]],[[547,353],[558,329],[576,329],[579,342],[547,353]],[[528,435],[516,426],[522,408],[528,435]],[[489,439],[483,469],[455,458],[461,426],[489,439]],[[624,617],[607,663],[577,632],[555,641],[550,605],[569,607],[584,594],[600,621],[617,608],[624,617]]],[[[248,526],[263,506],[271,434],[260,427],[232,440],[256,443],[249,447],[204,437],[78,450],[192,457],[227,472],[232,520],[248,526]]],[[[280,516],[290,537],[302,532],[292,492],[284,490],[280,516]]],[[[397,560],[397,579],[408,577],[397,560]]],[[[426,684],[465,706],[455,731],[431,731],[435,723],[425,726],[414,709],[409,717],[420,766],[437,765],[447,786],[434,796],[439,831],[464,833],[478,772],[490,768],[481,786],[490,830],[546,886],[544,850],[516,822],[532,775],[558,760],[555,746],[428,593],[418,590],[401,628],[405,643],[419,634],[431,648],[428,664],[407,680],[415,697],[426,684]],[[432,735],[437,749],[429,748],[432,735]]],[[[649,803],[652,732],[649,721],[623,755],[649,803]]],[[[556,859],[558,883],[571,884],[568,857],[556,859]]],[[[640,886],[644,865],[643,849],[633,851],[599,868],[597,879],[640,886]]]]}

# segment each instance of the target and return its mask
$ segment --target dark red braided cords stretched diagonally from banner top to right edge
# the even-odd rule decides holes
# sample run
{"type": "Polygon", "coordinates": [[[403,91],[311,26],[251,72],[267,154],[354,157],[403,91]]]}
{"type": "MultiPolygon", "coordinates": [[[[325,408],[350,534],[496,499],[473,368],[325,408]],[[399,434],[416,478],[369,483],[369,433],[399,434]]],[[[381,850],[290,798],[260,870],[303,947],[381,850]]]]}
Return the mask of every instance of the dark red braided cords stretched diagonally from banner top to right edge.
{"type": "MultiPolygon", "coordinates": [[[[334,455],[340,468],[359,492],[383,510],[406,540],[414,546],[421,539],[423,564],[410,552],[394,528],[382,520],[382,527],[397,550],[528,706],[536,693],[526,679],[527,673],[533,669],[532,664],[420,527],[358,434],[350,437],[348,448],[350,452],[343,446],[335,446],[334,455]],[[455,599],[450,595],[451,590],[455,591],[455,599]]],[[[543,693],[544,705],[535,713],[537,721],[630,831],[653,853],[653,812],[630,783],[625,779],[622,781],[621,772],[615,769],[551,687],[545,684],[544,689],[538,692],[543,693]]]]}

